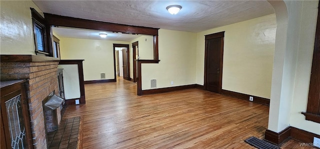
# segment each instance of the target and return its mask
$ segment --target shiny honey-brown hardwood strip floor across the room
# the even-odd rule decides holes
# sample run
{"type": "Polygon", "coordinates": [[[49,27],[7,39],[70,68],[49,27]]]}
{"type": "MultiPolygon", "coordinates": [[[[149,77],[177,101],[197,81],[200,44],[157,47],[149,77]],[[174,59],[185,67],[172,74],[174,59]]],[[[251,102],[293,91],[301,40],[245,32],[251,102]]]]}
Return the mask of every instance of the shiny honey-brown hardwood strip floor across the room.
{"type": "Polygon", "coordinates": [[[255,149],[243,141],[264,138],[268,122],[267,106],[199,89],[137,96],[117,79],[86,84],[85,95],[63,116],[83,116],[83,149],[255,149]]]}

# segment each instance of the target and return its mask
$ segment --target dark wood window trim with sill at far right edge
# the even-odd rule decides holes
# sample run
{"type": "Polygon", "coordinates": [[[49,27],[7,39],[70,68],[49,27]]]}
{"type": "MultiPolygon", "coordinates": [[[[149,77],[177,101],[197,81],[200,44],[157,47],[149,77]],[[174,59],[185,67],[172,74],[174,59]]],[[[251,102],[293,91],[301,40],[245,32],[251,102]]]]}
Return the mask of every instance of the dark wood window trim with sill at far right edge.
{"type": "MultiPolygon", "coordinates": [[[[320,7],[320,2],[318,4],[320,7]]],[[[305,120],[320,123],[320,11],[318,11],[305,120]]]]}

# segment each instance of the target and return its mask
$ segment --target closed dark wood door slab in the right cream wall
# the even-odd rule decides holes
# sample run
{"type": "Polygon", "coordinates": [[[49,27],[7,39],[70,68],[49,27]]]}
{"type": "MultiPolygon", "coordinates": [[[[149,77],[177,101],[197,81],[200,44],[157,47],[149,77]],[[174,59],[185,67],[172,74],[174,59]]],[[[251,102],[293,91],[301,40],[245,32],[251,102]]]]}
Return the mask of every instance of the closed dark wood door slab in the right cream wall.
{"type": "MultiPolygon", "coordinates": [[[[223,36],[211,34],[205,39],[205,89],[220,93],[222,86],[223,36]]],[[[220,35],[220,34],[218,34],[220,35]]]]}

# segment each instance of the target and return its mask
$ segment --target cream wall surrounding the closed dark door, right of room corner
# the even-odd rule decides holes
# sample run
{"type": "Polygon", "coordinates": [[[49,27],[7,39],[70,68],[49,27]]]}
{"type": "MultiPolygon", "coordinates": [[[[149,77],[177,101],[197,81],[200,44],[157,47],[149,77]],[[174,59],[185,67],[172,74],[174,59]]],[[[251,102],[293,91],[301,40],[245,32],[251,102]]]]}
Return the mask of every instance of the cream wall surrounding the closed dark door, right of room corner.
{"type": "Polygon", "coordinates": [[[203,85],[204,35],[224,32],[222,89],[270,98],[275,14],[197,33],[196,83],[203,85]]]}

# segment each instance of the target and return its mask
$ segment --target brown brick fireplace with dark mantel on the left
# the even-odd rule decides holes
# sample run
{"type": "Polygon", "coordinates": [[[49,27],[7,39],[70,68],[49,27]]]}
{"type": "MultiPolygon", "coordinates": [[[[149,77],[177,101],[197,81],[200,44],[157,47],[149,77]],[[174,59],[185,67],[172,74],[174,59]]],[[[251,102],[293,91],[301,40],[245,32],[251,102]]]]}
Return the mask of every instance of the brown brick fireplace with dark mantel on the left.
{"type": "MultiPolygon", "coordinates": [[[[58,93],[57,67],[59,59],[36,55],[1,55],[1,81],[26,79],[32,142],[36,149],[46,149],[42,101],[54,91],[58,93]]],[[[60,108],[56,109],[58,123],[60,108]]]]}

